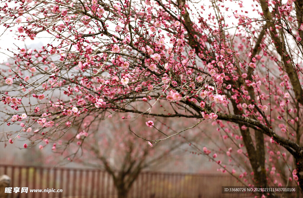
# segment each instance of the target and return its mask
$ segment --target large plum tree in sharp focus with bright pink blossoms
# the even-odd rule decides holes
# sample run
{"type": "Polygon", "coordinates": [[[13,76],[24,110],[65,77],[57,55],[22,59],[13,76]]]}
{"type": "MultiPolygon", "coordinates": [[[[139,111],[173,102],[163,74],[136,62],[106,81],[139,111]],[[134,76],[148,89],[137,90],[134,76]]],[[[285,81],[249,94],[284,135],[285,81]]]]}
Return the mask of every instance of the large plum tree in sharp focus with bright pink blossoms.
{"type": "MultiPolygon", "coordinates": [[[[222,148],[222,160],[249,162],[246,185],[302,190],[303,1],[250,3],[6,1],[5,32],[45,44],[2,49],[15,59],[1,67],[2,124],[22,128],[2,141],[56,142],[78,117],[117,112],[196,120],[187,130],[215,120],[218,138],[237,149],[222,148]]],[[[133,132],[154,145],[184,131],[160,139],[133,132]]],[[[199,150],[234,172],[207,146],[199,150]]]]}

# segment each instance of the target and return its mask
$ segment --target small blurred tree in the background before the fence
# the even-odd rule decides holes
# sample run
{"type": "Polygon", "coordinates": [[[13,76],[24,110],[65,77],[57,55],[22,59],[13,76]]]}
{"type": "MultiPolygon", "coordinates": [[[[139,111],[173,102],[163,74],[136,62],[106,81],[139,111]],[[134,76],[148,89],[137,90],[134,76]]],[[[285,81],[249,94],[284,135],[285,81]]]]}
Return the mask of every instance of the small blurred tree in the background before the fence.
{"type": "MultiPolygon", "coordinates": [[[[133,183],[143,170],[159,170],[164,164],[174,162],[172,159],[184,153],[180,147],[188,143],[188,140],[179,137],[170,139],[164,144],[147,144],[145,140],[138,139],[128,130],[129,119],[121,122],[120,117],[119,114],[115,114],[109,116],[106,122],[97,120],[93,123],[91,123],[92,118],[86,117],[80,127],[68,132],[70,134],[61,139],[62,144],[57,145],[55,151],[64,153],[66,158],[73,159],[74,162],[105,170],[113,179],[118,197],[123,198],[127,197],[133,183]],[[92,133],[93,131],[98,133],[92,133]],[[70,142],[71,145],[66,148],[63,142],[70,142]]],[[[138,131],[138,134],[155,139],[160,138],[162,134],[154,133],[154,130],[169,130],[166,126],[167,122],[158,122],[157,128],[155,126],[153,129],[140,130],[145,125],[143,119],[146,118],[138,118],[137,124],[132,127],[132,130],[138,131]]]]}

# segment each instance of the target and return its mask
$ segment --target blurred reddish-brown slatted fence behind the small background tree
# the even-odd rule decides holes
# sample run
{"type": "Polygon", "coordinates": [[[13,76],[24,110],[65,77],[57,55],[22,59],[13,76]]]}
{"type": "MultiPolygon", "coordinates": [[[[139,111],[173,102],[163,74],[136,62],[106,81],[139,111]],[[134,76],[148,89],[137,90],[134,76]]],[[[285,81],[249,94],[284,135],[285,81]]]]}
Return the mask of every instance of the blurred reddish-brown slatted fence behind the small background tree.
{"type": "MultiPolygon", "coordinates": [[[[110,174],[98,169],[47,168],[35,166],[0,165],[0,175],[12,178],[11,187],[19,193],[10,198],[117,198],[110,174]],[[28,193],[21,193],[28,187],[28,193]],[[30,193],[30,189],[62,189],[62,193],[30,193]]],[[[128,198],[228,198],[221,186],[238,186],[230,175],[142,172],[132,185],[128,198]]],[[[248,197],[237,194],[237,197],[248,197]]]]}

